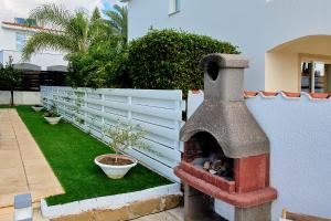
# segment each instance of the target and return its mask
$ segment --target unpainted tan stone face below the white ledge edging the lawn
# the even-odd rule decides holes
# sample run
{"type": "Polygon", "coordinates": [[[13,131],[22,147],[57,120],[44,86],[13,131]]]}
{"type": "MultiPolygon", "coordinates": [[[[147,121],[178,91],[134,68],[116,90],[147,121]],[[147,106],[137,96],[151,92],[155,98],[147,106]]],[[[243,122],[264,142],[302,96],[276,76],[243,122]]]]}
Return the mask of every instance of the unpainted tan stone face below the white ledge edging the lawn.
{"type": "Polygon", "coordinates": [[[109,209],[109,210],[92,210],[75,215],[61,217],[52,219],[52,221],[126,221],[139,217],[161,212],[164,210],[173,209],[179,206],[182,197],[178,194],[164,196],[153,199],[132,202],[128,206],[109,209]]]}

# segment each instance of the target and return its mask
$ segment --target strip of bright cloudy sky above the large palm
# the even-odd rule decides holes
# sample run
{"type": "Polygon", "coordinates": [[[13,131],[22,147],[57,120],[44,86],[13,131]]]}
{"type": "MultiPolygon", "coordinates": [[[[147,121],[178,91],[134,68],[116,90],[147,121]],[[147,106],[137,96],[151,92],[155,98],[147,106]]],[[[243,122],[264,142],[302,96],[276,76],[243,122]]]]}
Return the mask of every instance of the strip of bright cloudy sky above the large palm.
{"type": "Polygon", "coordinates": [[[29,17],[29,12],[43,3],[63,4],[68,10],[85,8],[92,11],[95,7],[104,8],[104,3],[119,3],[119,0],[0,0],[1,20],[12,21],[15,17],[29,17]]]}

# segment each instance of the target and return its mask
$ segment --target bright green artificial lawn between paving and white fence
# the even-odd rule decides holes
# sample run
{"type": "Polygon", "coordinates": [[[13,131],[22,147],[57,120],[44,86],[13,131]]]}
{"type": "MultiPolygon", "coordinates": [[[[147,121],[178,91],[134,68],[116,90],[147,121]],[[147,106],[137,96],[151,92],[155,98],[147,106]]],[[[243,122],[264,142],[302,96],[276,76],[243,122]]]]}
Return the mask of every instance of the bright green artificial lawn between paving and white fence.
{"type": "Polygon", "coordinates": [[[111,180],[94,164],[96,156],[110,151],[105,144],[68,123],[50,125],[30,106],[18,106],[17,110],[65,190],[65,194],[47,198],[50,206],[171,183],[141,165],[124,179],[111,180]]]}

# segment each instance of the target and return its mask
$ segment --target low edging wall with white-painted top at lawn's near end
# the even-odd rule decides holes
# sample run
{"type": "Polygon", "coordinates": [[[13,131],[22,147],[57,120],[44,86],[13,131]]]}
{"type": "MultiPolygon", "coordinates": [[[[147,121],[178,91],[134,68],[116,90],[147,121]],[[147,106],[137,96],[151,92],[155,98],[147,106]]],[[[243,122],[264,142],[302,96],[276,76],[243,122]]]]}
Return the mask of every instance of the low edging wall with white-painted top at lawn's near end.
{"type": "MultiPolygon", "coordinates": [[[[182,192],[180,190],[179,183],[173,185],[167,185],[161,187],[156,187],[151,189],[146,189],[137,192],[129,192],[129,193],[122,193],[122,194],[115,194],[115,196],[108,196],[108,197],[99,197],[99,198],[93,198],[87,200],[81,200],[75,202],[70,202],[65,204],[58,204],[58,206],[47,206],[45,200],[41,201],[41,211],[43,217],[49,219],[56,219],[67,215],[96,215],[96,211],[99,212],[117,212],[117,210],[126,210],[128,213],[128,218],[131,219],[134,215],[141,217],[153,212],[163,211],[167,209],[171,209],[171,207],[167,206],[167,201],[172,199],[179,200],[182,196],[182,192]],[[135,207],[137,208],[137,203],[146,202],[148,207],[148,202],[153,202],[151,206],[151,210],[149,211],[147,209],[146,212],[141,215],[135,215],[138,214],[139,211],[135,210],[135,207]],[[166,203],[166,204],[164,204],[166,203]],[[132,208],[134,207],[134,208],[132,208]],[[154,209],[153,209],[154,208],[154,209]],[[158,211],[154,211],[158,209],[158,211]],[[94,211],[94,212],[90,212],[94,211]]],[[[173,204],[173,203],[172,203],[173,204]]],[[[143,207],[146,208],[146,207],[143,207]]],[[[126,219],[119,219],[119,220],[126,220],[126,219]]]]}

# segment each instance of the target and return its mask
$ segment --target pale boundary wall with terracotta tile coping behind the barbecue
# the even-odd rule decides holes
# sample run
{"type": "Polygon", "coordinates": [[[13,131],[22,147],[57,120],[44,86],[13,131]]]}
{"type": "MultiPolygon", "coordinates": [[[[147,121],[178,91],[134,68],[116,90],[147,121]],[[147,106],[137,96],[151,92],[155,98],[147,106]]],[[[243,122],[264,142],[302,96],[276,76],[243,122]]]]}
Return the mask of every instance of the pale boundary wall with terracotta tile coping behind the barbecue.
{"type": "MultiPolygon", "coordinates": [[[[188,113],[202,101],[203,93],[190,93],[188,113]]],[[[273,221],[284,208],[331,218],[331,99],[258,95],[246,104],[270,140],[270,186],[278,191],[273,221]]]]}

